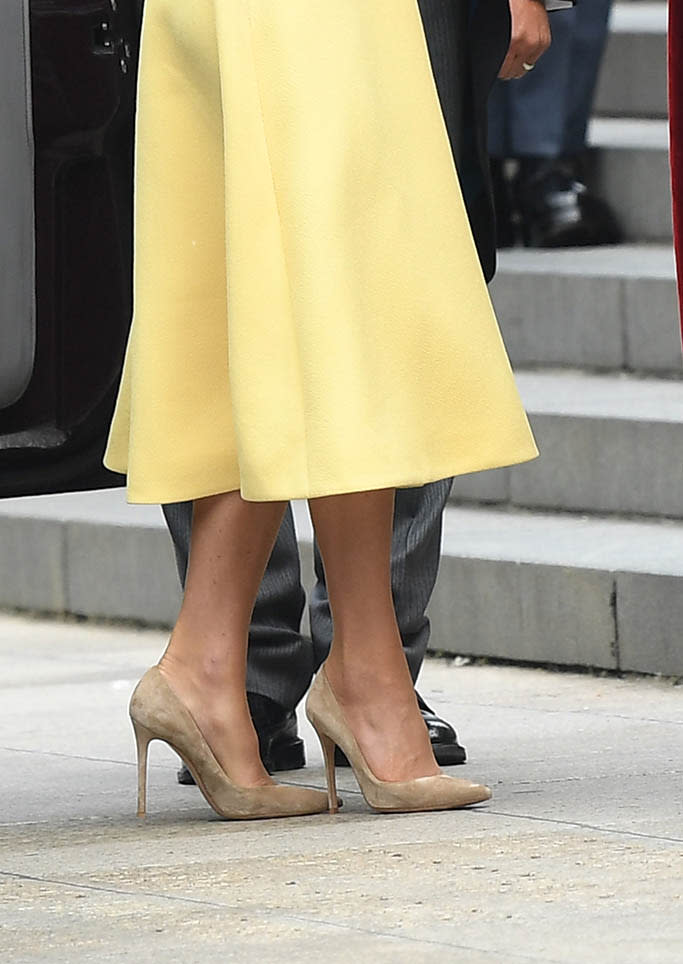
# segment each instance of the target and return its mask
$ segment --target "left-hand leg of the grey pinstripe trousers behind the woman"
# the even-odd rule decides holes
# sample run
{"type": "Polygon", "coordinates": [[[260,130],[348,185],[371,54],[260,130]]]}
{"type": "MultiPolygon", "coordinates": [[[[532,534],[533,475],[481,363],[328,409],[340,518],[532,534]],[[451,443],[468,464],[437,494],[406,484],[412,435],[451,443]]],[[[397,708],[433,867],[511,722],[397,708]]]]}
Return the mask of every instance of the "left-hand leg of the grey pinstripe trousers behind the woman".
{"type": "MultiPolygon", "coordinates": [[[[163,510],[184,585],[192,503],[174,503],[163,510]]],[[[254,607],[247,671],[249,692],[288,709],[300,701],[313,676],[313,647],[300,631],[304,605],[294,519],[288,508],[254,607]]]]}

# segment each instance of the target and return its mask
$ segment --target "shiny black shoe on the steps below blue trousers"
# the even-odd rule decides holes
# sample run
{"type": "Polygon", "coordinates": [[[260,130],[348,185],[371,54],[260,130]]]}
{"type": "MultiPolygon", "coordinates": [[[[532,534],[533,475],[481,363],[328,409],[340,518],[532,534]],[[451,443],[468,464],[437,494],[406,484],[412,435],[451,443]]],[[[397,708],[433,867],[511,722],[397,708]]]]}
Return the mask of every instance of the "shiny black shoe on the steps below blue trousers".
{"type": "Polygon", "coordinates": [[[571,248],[622,240],[611,208],[584,183],[579,157],[522,158],[513,194],[528,248],[571,248]]]}

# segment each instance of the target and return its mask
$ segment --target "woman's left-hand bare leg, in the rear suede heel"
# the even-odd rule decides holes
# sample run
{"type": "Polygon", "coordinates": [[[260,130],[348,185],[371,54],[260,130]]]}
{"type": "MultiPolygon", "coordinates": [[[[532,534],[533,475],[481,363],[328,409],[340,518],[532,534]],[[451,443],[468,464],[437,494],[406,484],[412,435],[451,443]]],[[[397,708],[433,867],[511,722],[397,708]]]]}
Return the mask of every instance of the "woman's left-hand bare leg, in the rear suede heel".
{"type": "Polygon", "coordinates": [[[195,502],[185,596],[159,664],[225,772],[241,786],[272,783],[247,704],[247,642],[285,507],[245,502],[239,492],[195,502]]]}

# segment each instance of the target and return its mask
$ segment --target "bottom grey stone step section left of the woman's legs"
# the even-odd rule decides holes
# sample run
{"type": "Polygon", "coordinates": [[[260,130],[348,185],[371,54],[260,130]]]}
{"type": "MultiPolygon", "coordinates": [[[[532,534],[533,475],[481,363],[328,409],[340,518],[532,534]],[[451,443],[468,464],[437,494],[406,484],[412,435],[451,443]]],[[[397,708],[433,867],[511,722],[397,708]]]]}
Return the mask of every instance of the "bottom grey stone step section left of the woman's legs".
{"type": "Polygon", "coordinates": [[[123,489],[0,499],[0,608],[169,626],[179,602],[159,506],[123,489]]]}

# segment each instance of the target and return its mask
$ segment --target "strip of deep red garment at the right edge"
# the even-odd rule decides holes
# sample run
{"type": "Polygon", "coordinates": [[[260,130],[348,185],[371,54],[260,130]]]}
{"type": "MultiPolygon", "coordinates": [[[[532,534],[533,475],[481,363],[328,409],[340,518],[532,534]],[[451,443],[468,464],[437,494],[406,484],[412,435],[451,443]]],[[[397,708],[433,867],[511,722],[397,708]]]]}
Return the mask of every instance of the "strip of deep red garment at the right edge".
{"type": "Polygon", "coordinates": [[[670,0],[669,3],[669,112],[674,243],[683,317],[683,0],[670,0]]]}

